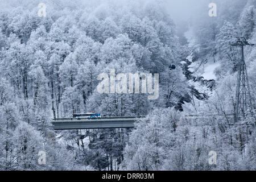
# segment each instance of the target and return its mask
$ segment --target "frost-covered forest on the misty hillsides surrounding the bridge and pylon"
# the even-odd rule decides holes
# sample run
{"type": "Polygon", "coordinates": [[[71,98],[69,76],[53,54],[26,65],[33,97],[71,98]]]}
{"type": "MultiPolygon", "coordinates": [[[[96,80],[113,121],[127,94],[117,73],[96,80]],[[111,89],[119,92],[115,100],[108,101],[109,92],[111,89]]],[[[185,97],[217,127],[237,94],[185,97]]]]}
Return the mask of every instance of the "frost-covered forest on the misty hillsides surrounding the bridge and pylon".
{"type": "Polygon", "coordinates": [[[212,1],[180,26],[168,0],[1,0],[0,170],[256,170],[256,46],[244,48],[252,104],[237,122],[231,46],[256,43],[256,0],[214,0],[210,17],[212,1]],[[159,73],[159,98],[98,93],[113,68],[159,73]],[[146,117],[135,129],[52,129],[90,112],[146,117]]]}

